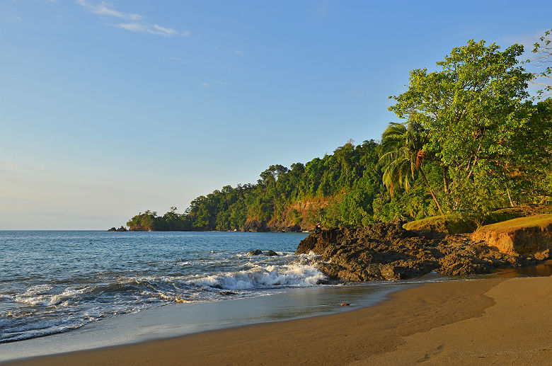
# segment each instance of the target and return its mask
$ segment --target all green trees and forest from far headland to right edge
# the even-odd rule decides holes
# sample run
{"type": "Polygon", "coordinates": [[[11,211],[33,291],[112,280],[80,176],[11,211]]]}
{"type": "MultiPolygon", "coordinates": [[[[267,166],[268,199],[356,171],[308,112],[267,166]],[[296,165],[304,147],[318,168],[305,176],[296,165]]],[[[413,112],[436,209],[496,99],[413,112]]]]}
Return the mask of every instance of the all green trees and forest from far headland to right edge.
{"type": "Polygon", "coordinates": [[[272,165],[256,184],[226,185],[184,214],[146,211],[127,225],[299,230],[432,215],[483,222],[500,207],[544,203],[552,195],[552,99],[529,98],[539,75],[522,67],[522,52],[484,41],[455,47],[439,71],[410,72],[408,90],[389,108],[403,122],[391,123],[381,144],[347,142],[306,164],[272,165]]]}

